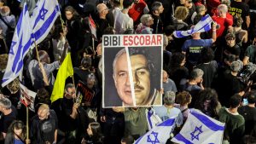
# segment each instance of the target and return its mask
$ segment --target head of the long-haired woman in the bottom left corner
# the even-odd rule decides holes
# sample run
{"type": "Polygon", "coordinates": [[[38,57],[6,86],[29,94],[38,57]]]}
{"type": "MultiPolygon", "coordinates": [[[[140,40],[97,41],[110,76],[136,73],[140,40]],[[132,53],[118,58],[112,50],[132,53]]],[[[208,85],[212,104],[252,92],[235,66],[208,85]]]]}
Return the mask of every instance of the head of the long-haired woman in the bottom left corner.
{"type": "Polygon", "coordinates": [[[25,125],[20,120],[15,120],[9,125],[8,134],[18,135],[23,137],[25,134],[25,125]]]}

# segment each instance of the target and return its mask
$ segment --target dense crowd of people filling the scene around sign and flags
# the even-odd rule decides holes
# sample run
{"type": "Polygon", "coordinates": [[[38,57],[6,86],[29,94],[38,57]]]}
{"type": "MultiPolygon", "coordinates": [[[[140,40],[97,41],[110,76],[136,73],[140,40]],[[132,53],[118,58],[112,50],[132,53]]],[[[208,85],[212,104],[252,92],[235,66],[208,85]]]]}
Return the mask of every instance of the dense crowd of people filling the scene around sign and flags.
{"type": "MultiPolygon", "coordinates": [[[[0,143],[131,144],[148,131],[146,109],[154,109],[162,120],[177,115],[175,135],[190,108],[225,123],[223,143],[256,143],[255,0],[58,1],[62,18],[38,43],[39,59],[36,49],[30,50],[23,80],[16,78],[0,87],[0,143]],[[209,32],[174,37],[173,32],[193,28],[206,14],[214,21],[209,32]],[[90,16],[96,23],[96,36],[90,29],[90,16]],[[164,35],[163,70],[156,70],[162,72],[161,107],[102,108],[105,34],[164,35]],[[58,68],[68,52],[73,78],[67,78],[63,98],[51,102],[58,68]],[[90,89],[91,101],[79,101],[76,87],[80,81],[90,89]],[[26,107],[20,103],[20,83],[37,92],[29,123],[26,107]]],[[[32,14],[38,0],[0,0],[1,80],[25,2],[32,14]]],[[[171,138],[166,143],[172,143],[171,138]]]]}

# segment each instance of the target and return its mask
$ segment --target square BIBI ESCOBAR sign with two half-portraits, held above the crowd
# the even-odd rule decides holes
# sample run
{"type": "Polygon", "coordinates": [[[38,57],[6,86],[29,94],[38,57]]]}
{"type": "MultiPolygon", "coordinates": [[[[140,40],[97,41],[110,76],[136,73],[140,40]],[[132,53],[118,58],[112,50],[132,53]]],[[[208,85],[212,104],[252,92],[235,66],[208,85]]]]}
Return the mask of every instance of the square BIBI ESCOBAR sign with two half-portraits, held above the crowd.
{"type": "Polygon", "coordinates": [[[104,35],[102,39],[102,107],[162,105],[162,35],[104,35]]]}

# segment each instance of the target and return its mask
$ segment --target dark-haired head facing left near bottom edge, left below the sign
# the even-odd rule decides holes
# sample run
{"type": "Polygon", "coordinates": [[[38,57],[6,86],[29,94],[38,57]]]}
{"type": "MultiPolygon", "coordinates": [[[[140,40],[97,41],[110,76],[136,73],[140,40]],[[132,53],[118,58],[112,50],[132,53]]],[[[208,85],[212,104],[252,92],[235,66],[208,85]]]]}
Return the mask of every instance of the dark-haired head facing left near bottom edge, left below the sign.
{"type": "Polygon", "coordinates": [[[88,125],[87,134],[91,137],[93,142],[102,141],[102,128],[101,124],[92,122],[88,125]]]}

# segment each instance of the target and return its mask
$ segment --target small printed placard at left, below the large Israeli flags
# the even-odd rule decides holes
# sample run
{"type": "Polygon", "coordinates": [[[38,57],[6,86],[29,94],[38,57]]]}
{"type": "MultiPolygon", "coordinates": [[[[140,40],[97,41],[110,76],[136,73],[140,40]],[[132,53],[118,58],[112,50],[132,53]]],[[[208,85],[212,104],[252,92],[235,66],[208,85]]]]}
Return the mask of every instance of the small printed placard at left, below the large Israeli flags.
{"type": "Polygon", "coordinates": [[[26,86],[20,84],[20,102],[23,103],[26,107],[28,107],[32,112],[35,112],[35,98],[37,93],[33,92],[30,89],[27,89],[26,86]]]}

